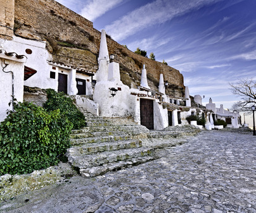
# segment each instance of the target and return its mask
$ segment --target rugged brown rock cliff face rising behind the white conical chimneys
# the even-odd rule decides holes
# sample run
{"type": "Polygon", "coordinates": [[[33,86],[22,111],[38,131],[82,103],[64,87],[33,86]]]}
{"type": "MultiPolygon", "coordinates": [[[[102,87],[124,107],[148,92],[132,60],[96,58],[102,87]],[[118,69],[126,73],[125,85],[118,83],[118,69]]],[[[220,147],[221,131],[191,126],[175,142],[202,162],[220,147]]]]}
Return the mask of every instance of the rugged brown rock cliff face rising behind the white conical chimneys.
{"type": "MultiPolygon", "coordinates": [[[[74,13],[54,0],[15,0],[15,35],[34,40],[46,40],[53,61],[74,65],[87,71],[98,70],[101,33],[93,22],[74,13]]],[[[163,73],[169,82],[167,94],[184,97],[183,76],[178,70],[130,51],[107,36],[108,51],[120,64],[122,82],[137,88],[141,70],[146,64],[148,85],[158,90],[163,73]]]]}

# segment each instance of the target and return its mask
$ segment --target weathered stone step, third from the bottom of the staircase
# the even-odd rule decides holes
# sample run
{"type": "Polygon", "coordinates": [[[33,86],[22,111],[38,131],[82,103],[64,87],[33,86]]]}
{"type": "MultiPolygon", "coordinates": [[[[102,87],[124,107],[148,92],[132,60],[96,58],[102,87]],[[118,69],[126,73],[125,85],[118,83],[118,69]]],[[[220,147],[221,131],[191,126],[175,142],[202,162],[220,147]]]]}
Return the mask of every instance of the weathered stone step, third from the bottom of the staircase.
{"type": "Polygon", "coordinates": [[[106,152],[119,149],[134,149],[141,146],[141,140],[126,140],[106,143],[86,143],[84,145],[71,147],[67,150],[66,155],[89,155],[98,152],[106,152]]]}

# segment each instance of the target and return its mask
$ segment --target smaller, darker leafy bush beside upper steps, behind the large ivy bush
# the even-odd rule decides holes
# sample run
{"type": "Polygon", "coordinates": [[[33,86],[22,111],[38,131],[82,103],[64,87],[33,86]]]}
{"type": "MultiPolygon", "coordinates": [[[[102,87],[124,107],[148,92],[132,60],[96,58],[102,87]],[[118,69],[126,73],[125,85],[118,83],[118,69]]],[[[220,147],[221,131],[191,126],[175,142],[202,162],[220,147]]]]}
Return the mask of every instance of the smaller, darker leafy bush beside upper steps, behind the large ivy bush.
{"type": "Polygon", "coordinates": [[[66,97],[63,92],[56,92],[49,88],[46,90],[48,100],[44,103],[43,107],[47,111],[54,111],[60,109],[61,115],[68,118],[68,120],[74,125],[75,130],[86,126],[86,120],[84,114],[75,106],[73,101],[66,97]]]}

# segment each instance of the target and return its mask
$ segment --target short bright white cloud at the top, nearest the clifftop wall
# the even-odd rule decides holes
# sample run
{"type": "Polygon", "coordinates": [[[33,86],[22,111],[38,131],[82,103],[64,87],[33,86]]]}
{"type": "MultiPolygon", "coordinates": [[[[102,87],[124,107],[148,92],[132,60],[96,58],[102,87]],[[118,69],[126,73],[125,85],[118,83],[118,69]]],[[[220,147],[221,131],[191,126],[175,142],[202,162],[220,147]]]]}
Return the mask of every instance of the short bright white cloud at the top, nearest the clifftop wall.
{"type": "Polygon", "coordinates": [[[115,8],[123,0],[93,0],[87,1],[86,6],[82,8],[81,15],[90,21],[94,21],[99,16],[105,14],[110,9],[115,8]]]}

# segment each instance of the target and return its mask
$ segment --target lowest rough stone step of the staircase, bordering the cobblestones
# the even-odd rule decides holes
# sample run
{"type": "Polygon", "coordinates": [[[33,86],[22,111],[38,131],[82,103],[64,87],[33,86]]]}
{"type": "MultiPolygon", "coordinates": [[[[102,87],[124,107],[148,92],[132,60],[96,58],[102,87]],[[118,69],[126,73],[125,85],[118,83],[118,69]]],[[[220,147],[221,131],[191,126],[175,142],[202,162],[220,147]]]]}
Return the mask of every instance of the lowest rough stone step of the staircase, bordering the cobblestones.
{"type": "Polygon", "coordinates": [[[148,161],[153,161],[157,158],[158,157],[156,156],[132,158],[132,159],[129,159],[129,161],[118,161],[118,162],[113,162],[109,164],[104,164],[103,166],[94,166],[94,167],[89,167],[87,169],[80,169],[80,174],[84,178],[93,178],[95,176],[105,174],[108,171],[117,171],[124,167],[136,166],[148,161]]]}

